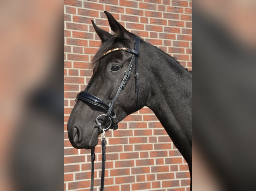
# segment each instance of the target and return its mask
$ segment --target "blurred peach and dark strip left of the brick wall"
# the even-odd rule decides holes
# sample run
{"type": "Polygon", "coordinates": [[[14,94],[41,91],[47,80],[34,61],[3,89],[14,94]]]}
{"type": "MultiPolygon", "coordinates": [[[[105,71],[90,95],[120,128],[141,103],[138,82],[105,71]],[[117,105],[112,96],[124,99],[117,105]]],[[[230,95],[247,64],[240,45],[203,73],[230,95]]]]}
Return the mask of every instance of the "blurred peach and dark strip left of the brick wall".
{"type": "Polygon", "coordinates": [[[0,4],[0,190],[63,190],[63,2],[0,4]]]}

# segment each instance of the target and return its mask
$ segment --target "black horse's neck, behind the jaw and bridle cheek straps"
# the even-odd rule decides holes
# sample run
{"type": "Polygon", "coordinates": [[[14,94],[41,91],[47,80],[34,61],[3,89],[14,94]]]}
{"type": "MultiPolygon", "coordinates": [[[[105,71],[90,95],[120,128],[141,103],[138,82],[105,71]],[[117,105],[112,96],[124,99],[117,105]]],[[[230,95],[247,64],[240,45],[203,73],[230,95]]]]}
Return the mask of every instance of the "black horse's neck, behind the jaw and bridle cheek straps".
{"type": "Polygon", "coordinates": [[[145,67],[149,69],[151,83],[146,106],[153,110],[177,148],[182,141],[186,141],[189,146],[191,144],[189,143],[191,142],[191,73],[156,47],[147,43],[141,46],[143,63],[146,63],[145,67]]]}

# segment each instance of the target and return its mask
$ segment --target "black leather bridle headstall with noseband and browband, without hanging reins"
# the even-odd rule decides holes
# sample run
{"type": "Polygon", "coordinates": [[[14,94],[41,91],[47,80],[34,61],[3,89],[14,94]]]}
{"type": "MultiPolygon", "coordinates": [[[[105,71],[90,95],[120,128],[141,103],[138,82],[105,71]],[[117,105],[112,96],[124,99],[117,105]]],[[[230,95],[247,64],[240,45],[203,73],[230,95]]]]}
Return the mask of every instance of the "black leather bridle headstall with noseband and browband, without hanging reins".
{"type": "MultiPolygon", "coordinates": [[[[139,48],[140,48],[140,40],[134,36],[133,38],[134,40],[134,49],[129,49],[129,48],[114,48],[112,50],[109,50],[107,52],[105,52],[102,57],[115,52],[115,51],[125,51],[125,52],[129,52],[131,54],[133,54],[131,62],[127,68],[127,70],[125,71],[124,77],[121,81],[121,84],[118,88],[118,91],[115,95],[115,97],[111,100],[111,102],[109,104],[105,103],[104,101],[102,101],[100,98],[96,97],[95,95],[92,95],[88,92],[80,92],[77,95],[76,101],[81,100],[83,102],[87,102],[87,103],[91,103],[97,107],[103,108],[106,112],[105,114],[105,120],[108,120],[108,118],[110,117],[111,119],[111,126],[110,128],[113,130],[118,129],[118,119],[116,117],[116,113],[113,111],[113,107],[116,103],[116,100],[120,94],[120,92],[126,87],[131,75],[132,75],[132,69],[133,66],[135,65],[135,94],[136,94],[136,100],[135,100],[135,110],[137,108],[137,103],[138,103],[138,92],[139,92],[139,74],[138,74],[138,58],[139,58],[139,48]]],[[[99,123],[97,123],[99,124],[99,123]]],[[[101,126],[101,125],[99,125],[101,126]]],[[[105,129],[107,130],[107,129],[105,129]]]]}

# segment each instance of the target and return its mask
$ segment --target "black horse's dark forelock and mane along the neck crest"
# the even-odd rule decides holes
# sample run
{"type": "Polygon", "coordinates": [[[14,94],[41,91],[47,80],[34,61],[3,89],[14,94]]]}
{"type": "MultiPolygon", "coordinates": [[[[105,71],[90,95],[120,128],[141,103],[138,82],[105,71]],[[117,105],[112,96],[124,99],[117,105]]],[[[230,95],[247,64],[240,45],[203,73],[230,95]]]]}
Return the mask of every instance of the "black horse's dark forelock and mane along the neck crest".
{"type": "MultiPolygon", "coordinates": [[[[132,34],[132,35],[136,36],[138,39],[142,40],[139,36],[137,36],[135,34],[132,34]]],[[[95,56],[92,60],[92,68],[93,68],[94,72],[96,72],[97,68],[99,67],[99,60],[102,58],[102,55],[106,51],[110,50],[112,48],[113,44],[117,41],[121,42],[123,44],[126,44],[127,39],[119,38],[119,37],[117,37],[117,35],[113,35],[107,41],[102,43],[101,47],[99,48],[98,52],[95,54],[95,56]]],[[[150,47],[154,48],[156,51],[159,51],[165,58],[167,58],[169,60],[168,61],[169,63],[173,63],[173,67],[176,69],[176,71],[178,73],[181,73],[182,71],[191,73],[191,71],[188,71],[187,68],[184,68],[183,66],[180,65],[180,63],[177,61],[176,57],[172,57],[172,56],[168,55],[167,53],[165,53],[161,49],[157,48],[156,46],[153,46],[147,42],[145,42],[145,43],[148,44],[150,47]]]]}

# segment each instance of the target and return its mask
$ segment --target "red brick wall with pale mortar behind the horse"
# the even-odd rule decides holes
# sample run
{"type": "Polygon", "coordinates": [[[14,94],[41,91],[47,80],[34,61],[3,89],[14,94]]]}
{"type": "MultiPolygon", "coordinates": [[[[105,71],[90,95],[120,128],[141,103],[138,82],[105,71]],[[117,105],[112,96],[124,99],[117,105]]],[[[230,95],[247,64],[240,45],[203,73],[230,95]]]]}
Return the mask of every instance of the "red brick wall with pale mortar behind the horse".
{"type": "MultiPolygon", "coordinates": [[[[90,80],[90,61],[100,47],[91,20],[111,32],[104,10],[130,32],[157,46],[188,70],[191,62],[191,5],[179,0],[65,0],[64,190],[90,190],[91,151],[71,146],[67,121],[75,97],[90,80]]],[[[189,190],[187,164],[154,113],[147,107],[108,131],[104,190],[189,190]]],[[[101,146],[96,146],[95,190],[101,176],[101,146]]]]}

